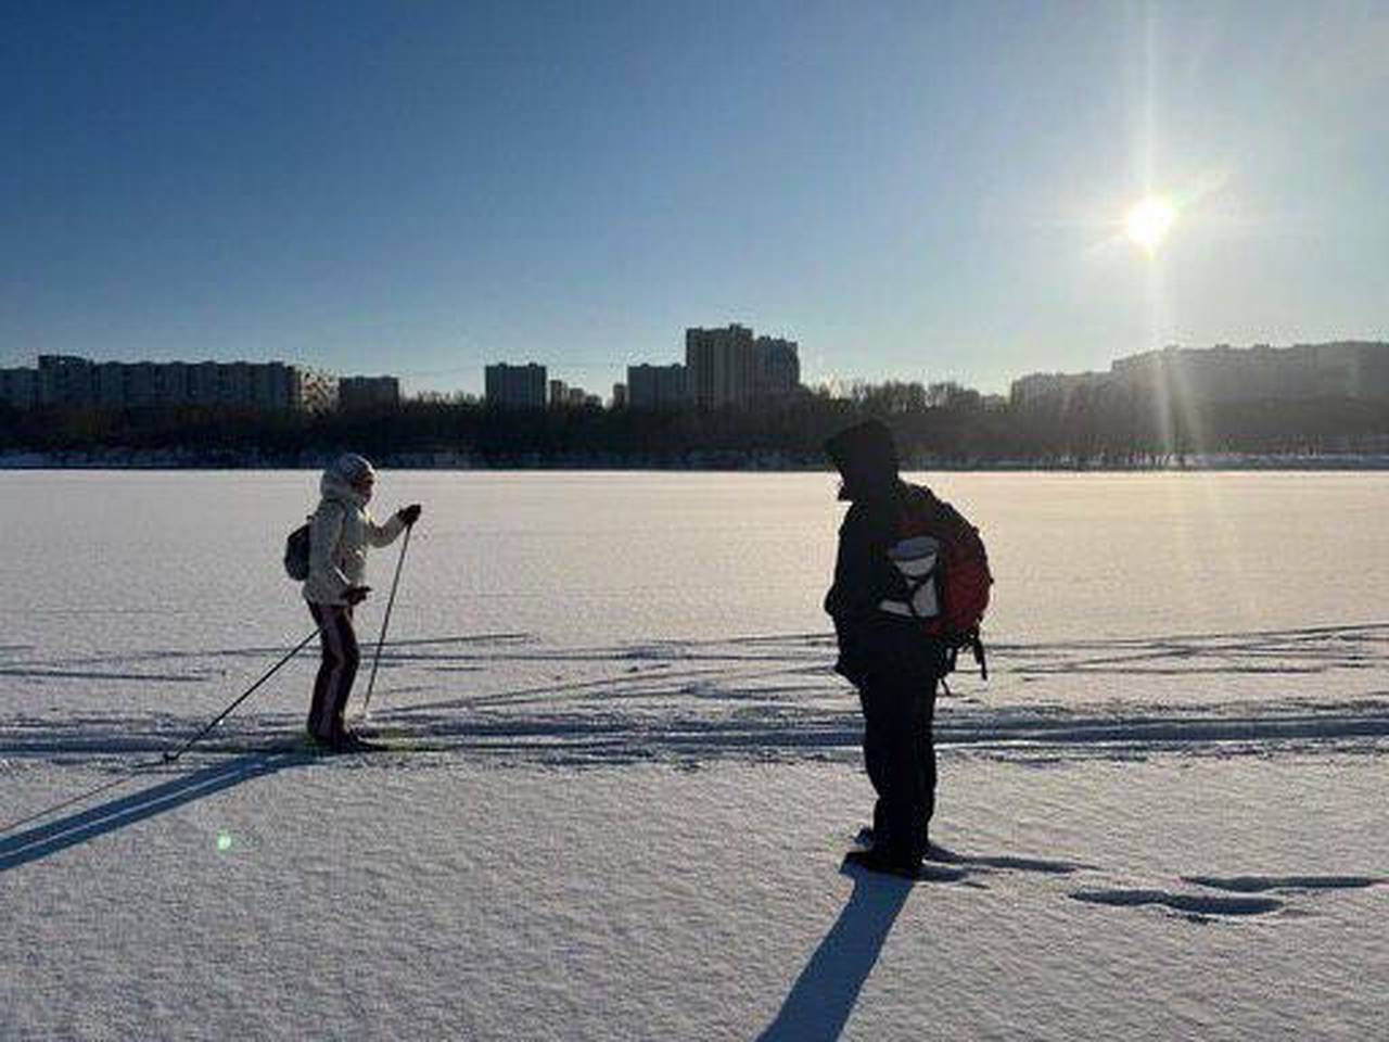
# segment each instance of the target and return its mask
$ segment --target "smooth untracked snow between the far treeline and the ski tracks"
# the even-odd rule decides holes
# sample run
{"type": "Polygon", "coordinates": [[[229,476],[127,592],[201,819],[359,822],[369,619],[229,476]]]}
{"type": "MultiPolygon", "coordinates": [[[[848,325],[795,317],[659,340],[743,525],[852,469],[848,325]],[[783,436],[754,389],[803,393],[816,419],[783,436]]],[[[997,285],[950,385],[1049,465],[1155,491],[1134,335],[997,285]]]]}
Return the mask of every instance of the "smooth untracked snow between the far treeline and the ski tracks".
{"type": "MultiPolygon", "coordinates": [[[[983,531],[1000,642],[1383,615],[1389,474],[918,479],[983,531]]],[[[374,506],[426,506],[401,632],[724,639],[826,628],[833,492],[821,474],[388,472],[374,506]]],[[[285,639],[300,611],[283,532],[315,503],[308,472],[0,472],[6,628],[285,639]]],[[[393,554],[375,557],[378,586],[393,554]]]]}

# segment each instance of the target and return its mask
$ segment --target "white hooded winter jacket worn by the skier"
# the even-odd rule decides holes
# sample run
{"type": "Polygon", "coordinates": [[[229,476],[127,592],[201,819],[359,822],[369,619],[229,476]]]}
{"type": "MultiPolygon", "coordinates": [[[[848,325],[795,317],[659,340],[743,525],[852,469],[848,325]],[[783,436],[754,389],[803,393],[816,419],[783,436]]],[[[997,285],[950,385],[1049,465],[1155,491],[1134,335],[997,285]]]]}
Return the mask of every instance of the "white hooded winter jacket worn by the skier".
{"type": "Polygon", "coordinates": [[[367,577],[367,547],[394,542],[406,524],[399,517],[378,525],[367,513],[367,499],[332,471],[319,483],[322,502],[308,524],[308,578],[304,600],[346,604],[349,586],[367,577]]]}

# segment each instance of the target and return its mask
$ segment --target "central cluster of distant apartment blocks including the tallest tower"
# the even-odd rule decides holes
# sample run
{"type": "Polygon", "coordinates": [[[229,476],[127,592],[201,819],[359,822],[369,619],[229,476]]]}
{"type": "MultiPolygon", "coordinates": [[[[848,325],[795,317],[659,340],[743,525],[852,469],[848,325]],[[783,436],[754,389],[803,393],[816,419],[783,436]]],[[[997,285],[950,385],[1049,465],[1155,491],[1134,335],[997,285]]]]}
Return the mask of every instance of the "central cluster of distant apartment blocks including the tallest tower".
{"type": "MultiPolygon", "coordinates": [[[[599,404],[596,395],[547,381],[544,365],[486,367],[486,400],[501,408],[599,404]]],[[[686,329],[685,363],[628,365],[626,383],[613,385],[613,406],[639,410],[746,407],[800,389],[795,340],[754,336],[743,325],[686,329]]]]}

